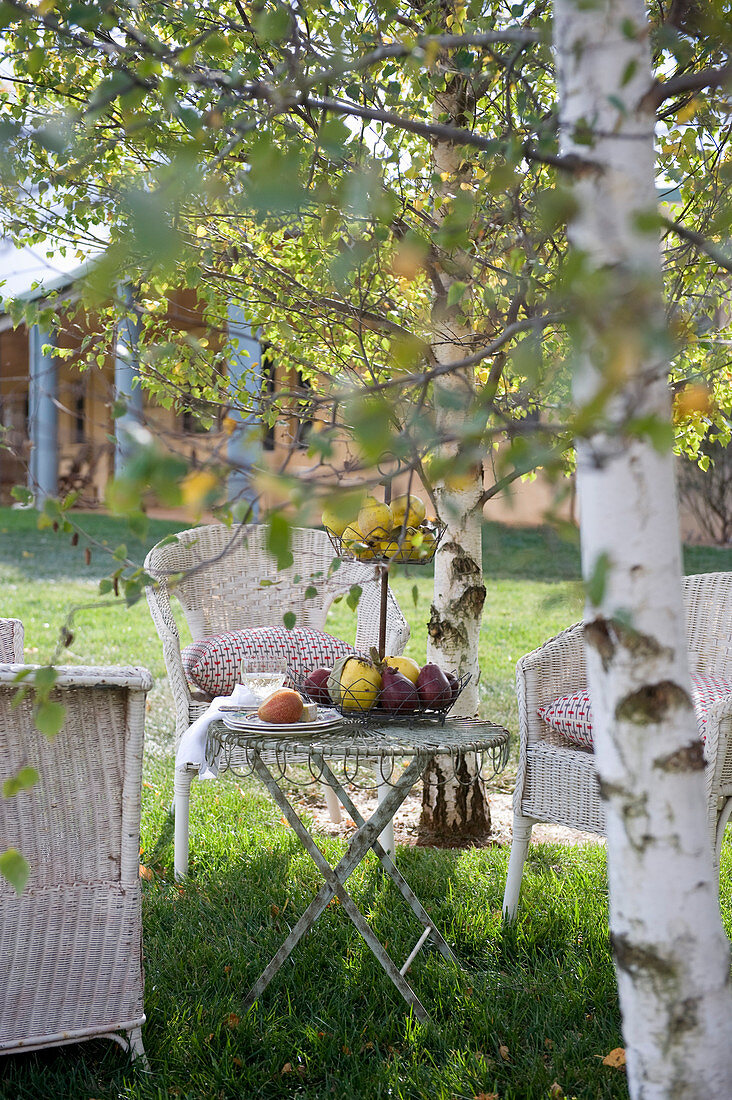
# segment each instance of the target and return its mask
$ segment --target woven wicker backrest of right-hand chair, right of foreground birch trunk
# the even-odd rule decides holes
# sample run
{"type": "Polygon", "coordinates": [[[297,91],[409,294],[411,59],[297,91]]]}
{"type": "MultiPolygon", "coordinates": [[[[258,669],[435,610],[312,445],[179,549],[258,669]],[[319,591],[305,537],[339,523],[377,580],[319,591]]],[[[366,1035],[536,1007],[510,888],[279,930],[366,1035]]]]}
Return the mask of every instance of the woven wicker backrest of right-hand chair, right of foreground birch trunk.
{"type": "Polygon", "coordinates": [[[699,573],[684,582],[691,672],[732,678],[732,573],[699,573]]]}

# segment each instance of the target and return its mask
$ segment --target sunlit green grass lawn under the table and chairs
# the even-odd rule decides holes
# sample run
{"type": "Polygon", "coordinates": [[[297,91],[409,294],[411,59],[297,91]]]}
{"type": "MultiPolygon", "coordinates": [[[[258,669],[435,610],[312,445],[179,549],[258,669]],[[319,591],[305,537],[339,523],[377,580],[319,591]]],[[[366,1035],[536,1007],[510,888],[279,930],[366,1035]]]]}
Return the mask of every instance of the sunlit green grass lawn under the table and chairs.
{"type": "MultiPolygon", "coordinates": [[[[144,547],[107,517],[78,517],[94,539],[39,532],[30,512],[0,509],[0,615],[24,620],[29,660],[47,661],[75,606],[95,603],[105,541],[141,561],[144,547]]],[[[174,528],[151,526],[149,544],[174,528]]],[[[688,572],[732,569],[732,551],[690,550],[688,572]]],[[[485,527],[488,587],[481,634],[481,706],[515,730],[516,659],[581,612],[577,548],[543,529],[485,527]]],[[[424,658],[427,575],[397,578],[409,619],[408,652],[424,658]],[[412,600],[416,584],[418,600],[412,600]]],[[[334,632],[348,636],[341,604],[334,632]]],[[[145,949],[144,1042],[151,1072],[130,1068],[111,1044],[92,1042],[3,1060],[0,1097],[59,1098],[438,1098],[545,1100],[627,1096],[622,1072],[601,1058],[621,1045],[607,934],[603,849],[536,846],[524,878],[522,915],[504,930],[504,848],[404,848],[397,860],[436,916],[463,969],[424,954],[411,979],[433,1014],[417,1024],[350,922],[331,905],[248,1016],[249,985],[307,905],[318,876],[280,812],[249,781],[194,788],[192,877],[173,882],[172,710],[157,636],[144,601],[79,610],[68,663],[143,663],[157,678],[148,721],[143,787],[145,949]]],[[[343,850],[323,838],[329,858],[343,850]]],[[[730,897],[723,853],[722,898],[730,897]]],[[[394,957],[416,938],[393,888],[367,860],[352,879],[357,900],[394,957]]],[[[724,919],[732,920],[725,901],[724,919]]]]}

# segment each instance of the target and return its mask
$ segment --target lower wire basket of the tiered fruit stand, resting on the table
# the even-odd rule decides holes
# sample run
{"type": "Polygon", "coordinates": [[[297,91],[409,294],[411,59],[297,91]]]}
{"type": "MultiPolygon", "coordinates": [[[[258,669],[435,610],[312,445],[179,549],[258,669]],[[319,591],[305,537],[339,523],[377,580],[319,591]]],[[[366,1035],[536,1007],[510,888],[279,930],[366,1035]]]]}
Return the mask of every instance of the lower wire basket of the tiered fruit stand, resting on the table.
{"type": "MultiPolygon", "coordinates": [[[[292,672],[291,675],[293,675],[292,672]]],[[[293,680],[295,690],[309,702],[317,703],[318,706],[334,707],[349,722],[357,722],[362,725],[384,725],[384,723],[390,722],[400,725],[404,725],[405,723],[427,723],[430,725],[437,723],[441,725],[455,706],[463,688],[470,681],[470,673],[459,676],[457,672],[450,672],[449,675],[452,678],[450,681],[449,697],[444,693],[431,702],[426,702],[424,698],[418,697],[415,700],[413,696],[403,704],[394,706],[382,705],[381,691],[375,689],[372,681],[365,676],[354,680],[346,691],[341,689],[341,700],[339,703],[334,702],[330,695],[327,695],[326,698],[327,691],[325,688],[317,691],[313,689],[308,690],[305,686],[307,676],[293,675],[293,680]]],[[[416,691],[415,694],[417,694],[416,691]]]]}

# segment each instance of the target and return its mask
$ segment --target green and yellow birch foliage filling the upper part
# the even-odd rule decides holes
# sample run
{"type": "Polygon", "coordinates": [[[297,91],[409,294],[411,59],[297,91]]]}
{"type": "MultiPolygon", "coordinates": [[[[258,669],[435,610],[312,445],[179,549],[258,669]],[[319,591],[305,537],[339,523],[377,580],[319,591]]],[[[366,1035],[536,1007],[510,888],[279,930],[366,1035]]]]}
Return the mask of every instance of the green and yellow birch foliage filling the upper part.
{"type": "MultiPolygon", "coordinates": [[[[667,218],[682,221],[667,229],[669,339],[677,385],[717,387],[710,422],[729,406],[729,362],[711,322],[720,257],[703,245],[723,251],[729,234],[730,162],[723,78],[704,73],[725,64],[728,28],[722,6],[671,14],[652,8],[659,180],[677,189],[667,218]]],[[[501,484],[561,466],[593,414],[568,406],[566,319],[602,287],[566,253],[567,185],[590,170],[591,147],[584,165],[557,153],[548,4],[10,0],[0,22],[7,231],[36,244],[51,234],[79,255],[103,249],[84,293],[102,317],[119,312],[120,280],[134,283],[160,400],[204,415],[247,404],[216,340],[233,297],[314,388],[280,393],[265,417],[307,396],[308,415],[320,406],[332,425],[310,437],[324,483],[343,426],[351,472],[387,450],[420,469],[443,442],[435,320],[462,310],[476,386],[452,472],[505,440],[501,484]],[[436,105],[456,89],[448,119],[436,105]],[[463,158],[447,193],[431,158],[440,139],[463,158]],[[204,305],[208,337],[166,320],[182,286],[204,305]]],[[[105,339],[88,338],[90,363],[105,339]]]]}

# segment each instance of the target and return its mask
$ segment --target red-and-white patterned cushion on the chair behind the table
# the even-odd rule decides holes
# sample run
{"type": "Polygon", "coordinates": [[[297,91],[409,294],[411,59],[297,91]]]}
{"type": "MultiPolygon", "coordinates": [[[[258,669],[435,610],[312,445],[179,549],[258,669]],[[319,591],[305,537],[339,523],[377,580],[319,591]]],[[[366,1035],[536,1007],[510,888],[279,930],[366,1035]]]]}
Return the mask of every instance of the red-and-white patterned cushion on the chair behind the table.
{"type": "Polygon", "coordinates": [[[263,626],[255,630],[232,630],[230,634],[199,638],[186,646],[181,656],[188,680],[214,696],[231,694],[239,682],[239,669],[245,657],[284,657],[294,675],[301,679],[313,669],[329,669],[339,657],[349,657],[354,652],[347,641],[321,630],[263,626]]]}

